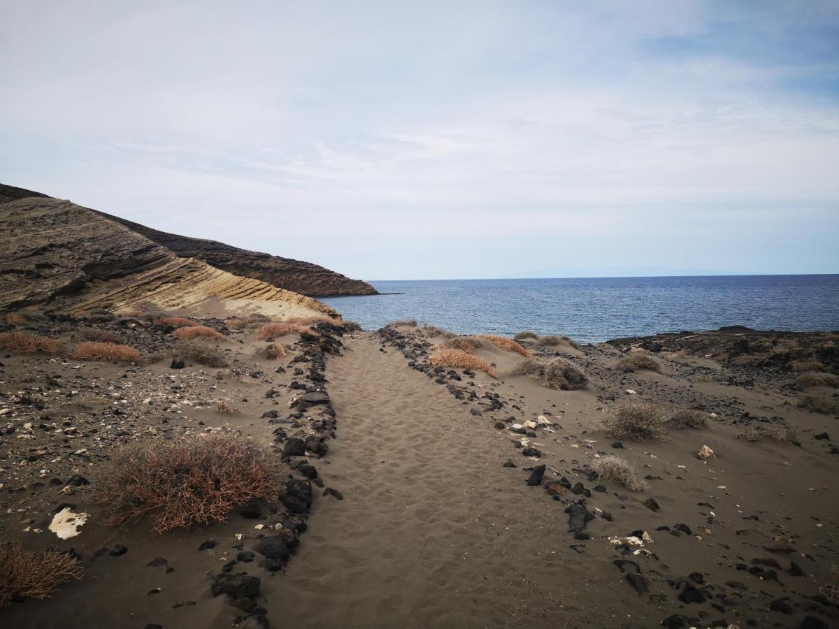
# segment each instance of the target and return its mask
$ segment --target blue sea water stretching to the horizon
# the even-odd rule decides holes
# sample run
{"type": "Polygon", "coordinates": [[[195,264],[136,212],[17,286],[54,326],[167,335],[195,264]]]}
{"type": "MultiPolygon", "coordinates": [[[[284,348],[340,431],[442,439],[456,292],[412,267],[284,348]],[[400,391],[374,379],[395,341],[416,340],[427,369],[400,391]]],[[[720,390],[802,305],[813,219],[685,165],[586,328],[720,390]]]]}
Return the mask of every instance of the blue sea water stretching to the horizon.
{"type": "Polygon", "coordinates": [[[583,343],[747,325],[839,330],[839,275],[457,279],[371,282],[382,294],[322,299],[378,330],[416,319],[459,334],[569,335],[583,343]]]}

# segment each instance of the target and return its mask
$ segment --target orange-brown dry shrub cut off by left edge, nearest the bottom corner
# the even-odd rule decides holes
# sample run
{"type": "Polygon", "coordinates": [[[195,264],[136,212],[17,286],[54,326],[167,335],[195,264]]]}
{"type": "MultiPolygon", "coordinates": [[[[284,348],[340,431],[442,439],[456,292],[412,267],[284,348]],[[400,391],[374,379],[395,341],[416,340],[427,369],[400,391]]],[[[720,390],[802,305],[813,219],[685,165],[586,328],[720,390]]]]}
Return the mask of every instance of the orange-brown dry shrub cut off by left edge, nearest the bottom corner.
{"type": "Polygon", "coordinates": [[[45,599],[70,579],[81,579],[81,563],[55,548],[35,553],[19,543],[0,543],[0,607],[27,598],[45,599]]]}

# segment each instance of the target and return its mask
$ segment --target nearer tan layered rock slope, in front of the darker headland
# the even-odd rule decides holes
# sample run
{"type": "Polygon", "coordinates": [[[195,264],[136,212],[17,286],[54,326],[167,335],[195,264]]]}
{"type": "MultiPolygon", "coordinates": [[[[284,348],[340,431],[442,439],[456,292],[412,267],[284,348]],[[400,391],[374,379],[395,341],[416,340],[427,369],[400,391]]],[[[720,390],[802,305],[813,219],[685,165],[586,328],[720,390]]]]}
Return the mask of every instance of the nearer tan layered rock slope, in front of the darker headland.
{"type": "Polygon", "coordinates": [[[336,314],[304,294],[181,257],[107,215],[0,187],[0,309],[45,305],[73,314],[138,304],[195,313],[336,314]]]}

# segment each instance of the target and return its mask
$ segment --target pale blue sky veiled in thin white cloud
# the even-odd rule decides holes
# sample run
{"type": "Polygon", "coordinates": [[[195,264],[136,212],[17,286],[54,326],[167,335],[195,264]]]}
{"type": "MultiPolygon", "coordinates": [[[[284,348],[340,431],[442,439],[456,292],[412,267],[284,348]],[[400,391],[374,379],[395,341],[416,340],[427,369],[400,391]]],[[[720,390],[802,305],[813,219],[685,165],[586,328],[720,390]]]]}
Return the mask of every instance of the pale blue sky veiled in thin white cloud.
{"type": "Polygon", "coordinates": [[[0,0],[0,182],[362,279],[839,273],[839,2],[0,0]]]}

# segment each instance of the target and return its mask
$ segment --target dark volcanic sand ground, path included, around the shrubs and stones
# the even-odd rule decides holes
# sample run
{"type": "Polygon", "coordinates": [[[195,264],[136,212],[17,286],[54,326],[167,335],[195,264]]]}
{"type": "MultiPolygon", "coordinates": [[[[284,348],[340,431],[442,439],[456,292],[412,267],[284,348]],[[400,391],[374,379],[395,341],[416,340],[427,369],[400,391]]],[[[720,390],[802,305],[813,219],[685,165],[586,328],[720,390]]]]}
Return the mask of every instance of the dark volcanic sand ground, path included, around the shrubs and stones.
{"type": "MultiPolygon", "coordinates": [[[[272,574],[258,560],[232,569],[262,580],[255,601],[271,625],[648,627],[670,618],[668,626],[797,627],[806,616],[825,623],[811,626],[839,622],[836,606],[820,595],[820,587],[836,578],[831,565],[839,564],[839,457],[831,454],[839,429],[836,417],[796,405],[795,373],[694,356],[674,346],[657,355],[661,373],[624,374],[614,367],[621,356],[616,347],[564,344],[547,351],[569,358],[591,382],[581,391],[555,391],[529,377],[504,376],[519,356],[495,348],[477,353],[497,364],[498,380],[482,373],[467,377],[462,370],[456,370],[460,380],[445,372],[429,377],[409,366],[410,358],[426,368],[428,340],[403,337],[413,334],[409,328],[399,332],[387,339],[345,335],[342,355],[326,359],[338,438],[328,442],[323,459],[310,458],[324,486],[343,499],[313,487],[309,529],[283,571],[272,574]],[[477,398],[470,400],[472,391],[477,398]],[[710,429],[671,430],[665,442],[623,440],[616,450],[600,422],[627,399],[668,408],[701,405],[717,417],[709,420],[710,429]],[[531,436],[510,430],[513,422],[539,415],[548,423],[531,429],[531,436]],[[498,422],[503,429],[495,427],[498,422]],[[782,423],[797,429],[798,444],[738,438],[751,426],[782,423]],[[816,439],[824,433],[827,438],[816,439]],[[522,438],[539,457],[514,447],[522,438]],[[717,456],[698,460],[702,445],[717,456]],[[589,466],[602,453],[632,461],[647,476],[649,490],[633,493],[604,481],[605,491],[597,491],[589,466]],[[516,467],[503,466],[508,460],[516,467]],[[538,484],[528,486],[529,468],[537,465],[545,465],[541,484],[565,477],[571,486],[582,484],[580,493],[565,489],[551,496],[538,484]],[[593,516],[576,535],[569,531],[570,507],[593,516]],[[609,539],[642,531],[652,539],[643,548],[609,539]]],[[[235,534],[243,533],[243,548],[253,549],[260,533],[254,526],[274,522],[271,509],[281,511],[281,505],[263,505],[259,519],[234,512],[221,525],[158,536],[143,522],[102,526],[93,498],[97,462],[121,439],[227,428],[270,444],[274,429],[286,424],[269,424],[263,412],[276,409],[286,417],[295,392],[289,383],[312,382],[293,375],[290,361],[300,349],[268,361],[253,356],[258,345],[252,333],[232,335],[228,346],[238,376],[224,380],[215,374],[228,370],[170,370],[168,361],[76,369],[76,362],[62,365],[43,356],[3,358],[0,408],[11,411],[0,421],[18,428],[0,437],[3,538],[33,548],[55,544],[46,525],[65,502],[91,519],[76,538],[58,543],[83,555],[83,580],[65,584],[50,600],[0,610],[0,622],[222,627],[243,615],[227,596],[211,596],[212,576],[235,558],[235,534]],[[275,374],[276,366],[288,371],[275,374]],[[255,372],[262,373],[249,375],[255,372]],[[59,384],[48,383],[50,377],[59,384]],[[44,391],[29,392],[34,387],[44,391]],[[265,398],[272,388],[278,397],[265,398]],[[68,396],[71,391],[79,393],[68,396]],[[23,393],[39,396],[44,408],[20,403],[23,393]],[[145,403],[149,397],[153,401],[145,403]],[[230,400],[237,413],[212,408],[219,398],[230,400]],[[125,415],[112,415],[115,399],[125,415]],[[39,429],[44,413],[59,425],[72,418],[80,434],[39,429]],[[30,421],[32,433],[22,428],[30,421]],[[70,455],[81,449],[86,456],[70,455]],[[39,450],[40,458],[26,460],[39,450]],[[44,469],[50,471],[41,478],[44,469]],[[72,474],[91,485],[62,494],[72,474]],[[54,476],[62,483],[50,485],[54,476]],[[44,486],[34,486],[38,482],[44,486]],[[199,551],[208,539],[216,547],[199,551]],[[128,552],[91,559],[98,548],[117,543],[128,552]],[[175,571],[147,565],[156,557],[175,571]],[[185,601],[195,604],[173,607],[185,601]]],[[[835,389],[821,391],[831,395],[835,389]]]]}

